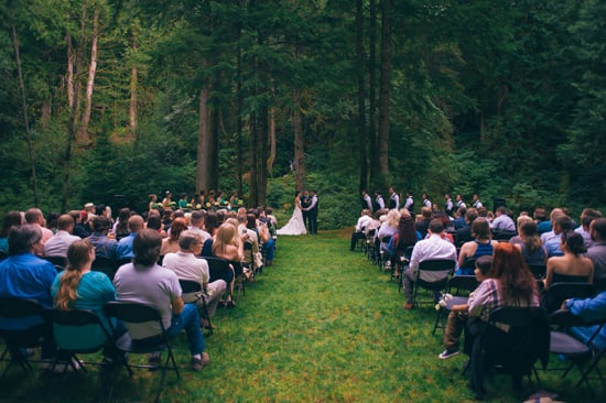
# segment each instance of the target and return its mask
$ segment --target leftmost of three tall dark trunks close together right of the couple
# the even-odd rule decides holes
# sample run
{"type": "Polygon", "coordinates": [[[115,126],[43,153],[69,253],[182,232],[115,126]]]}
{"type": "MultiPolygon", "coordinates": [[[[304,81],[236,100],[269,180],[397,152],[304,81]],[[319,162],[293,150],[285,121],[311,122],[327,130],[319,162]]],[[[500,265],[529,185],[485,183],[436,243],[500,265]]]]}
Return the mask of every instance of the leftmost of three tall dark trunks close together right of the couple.
{"type": "Polygon", "coordinates": [[[368,135],[366,133],[366,86],[364,76],[365,52],[364,52],[364,1],[356,0],[356,55],[358,75],[358,148],[360,161],[359,190],[368,187],[368,160],[367,145],[368,135]]]}

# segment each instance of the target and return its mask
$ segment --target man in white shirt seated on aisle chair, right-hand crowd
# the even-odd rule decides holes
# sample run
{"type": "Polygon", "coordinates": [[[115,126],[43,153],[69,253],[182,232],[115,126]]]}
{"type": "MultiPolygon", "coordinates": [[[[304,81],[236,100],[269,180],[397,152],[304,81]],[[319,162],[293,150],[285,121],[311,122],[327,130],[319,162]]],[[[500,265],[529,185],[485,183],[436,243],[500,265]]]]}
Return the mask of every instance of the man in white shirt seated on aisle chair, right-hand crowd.
{"type": "MultiPolygon", "coordinates": [[[[405,303],[404,309],[412,309],[412,286],[416,282],[416,272],[419,270],[419,263],[425,260],[446,259],[455,262],[456,265],[456,248],[451,242],[442,238],[444,232],[444,225],[441,220],[434,219],[430,222],[428,228],[429,237],[423,239],[414,246],[412,255],[410,258],[410,264],[402,273],[402,281],[404,285],[405,303]]],[[[423,272],[422,280],[428,282],[439,281],[445,279],[448,275],[450,270],[436,271],[436,272],[423,272]]],[[[435,295],[435,298],[440,298],[435,295]]]]}

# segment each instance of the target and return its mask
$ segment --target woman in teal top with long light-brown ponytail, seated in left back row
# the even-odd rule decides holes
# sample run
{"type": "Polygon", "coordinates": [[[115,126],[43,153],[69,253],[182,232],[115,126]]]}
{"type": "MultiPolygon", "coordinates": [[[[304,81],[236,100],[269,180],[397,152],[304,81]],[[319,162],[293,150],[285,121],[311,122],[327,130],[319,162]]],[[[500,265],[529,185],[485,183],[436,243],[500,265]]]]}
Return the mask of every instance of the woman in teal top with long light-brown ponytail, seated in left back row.
{"type": "MultiPolygon", "coordinates": [[[[97,216],[95,220],[106,219],[106,217],[97,216]]],[[[51,287],[55,307],[61,311],[69,309],[87,309],[91,311],[101,319],[106,329],[110,329],[110,325],[104,314],[104,304],[108,301],[116,299],[113,284],[107,275],[101,272],[91,271],[90,266],[95,260],[95,248],[88,239],[77,240],[69,246],[67,250],[67,266],[64,271],[55,276],[51,287]]],[[[123,333],[122,326],[117,325],[112,318],[113,328],[118,328],[123,333]]],[[[77,346],[78,340],[85,337],[86,344],[90,344],[90,339],[106,340],[105,331],[95,327],[86,329],[84,334],[73,328],[59,327],[55,331],[62,331],[63,338],[71,338],[72,345],[77,346]]],[[[118,350],[113,346],[112,340],[108,340],[104,348],[104,362],[109,364],[118,358],[118,350]]]]}

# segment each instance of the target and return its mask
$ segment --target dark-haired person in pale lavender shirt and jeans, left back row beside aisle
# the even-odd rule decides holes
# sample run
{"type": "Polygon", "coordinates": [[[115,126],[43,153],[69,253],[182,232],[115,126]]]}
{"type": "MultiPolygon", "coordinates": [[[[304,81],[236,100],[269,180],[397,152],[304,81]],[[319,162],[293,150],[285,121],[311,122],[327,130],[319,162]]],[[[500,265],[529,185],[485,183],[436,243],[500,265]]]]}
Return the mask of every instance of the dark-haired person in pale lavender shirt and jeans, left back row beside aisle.
{"type": "MultiPolygon", "coordinates": [[[[202,370],[208,364],[208,353],[204,352],[204,336],[199,328],[198,309],[193,304],[184,304],[176,274],[158,265],[162,237],[152,229],[142,229],[134,237],[132,263],[125,264],[116,273],[113,285],[117,299],[145,304],[155,307],[169,337],[175,337],[185,329],[192,369],[202,370]]],[[[126,324],[133,339],[145,339],[158,335],[158,324],[126,324]]],[[[149,358],[151,366],[160,366],[160,351],[149,358]]]]}

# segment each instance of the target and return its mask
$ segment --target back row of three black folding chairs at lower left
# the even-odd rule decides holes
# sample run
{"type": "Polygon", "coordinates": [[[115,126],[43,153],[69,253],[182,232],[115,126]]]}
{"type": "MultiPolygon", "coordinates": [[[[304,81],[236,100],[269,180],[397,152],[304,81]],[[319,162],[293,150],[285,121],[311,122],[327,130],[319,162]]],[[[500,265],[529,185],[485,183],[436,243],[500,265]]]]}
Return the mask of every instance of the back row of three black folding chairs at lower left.
{"type": "MultiPolygon", "coordinates": [[[[67,363],[64,364],[65,367],[63,373],[67,371],[68,366],[71,366],[74,370],[82,369],[83,371],[86,371],[85,366],[77,364],[77,362],[82,362],[79,361],[77,355],[100,351],[107,342],[115,344],[116,348],[122,353],[122,357],[126,357],[127,353],[139,355],[154,351],[166,351],[164,363],[159,368],[154,368],[161,373],[161,379],[155,395],[155,401],[158,402],[164,385],[166,370],[173,370],[176,377],[181,378],[160,312],[148,305],[116,301],[106,303],[104,306],[104,312],[108,318],[116,318],[123,323],[140,324],[155,322],[159,324],[161,331],[158,335],[144,340],[137,340],[130,338],[128,333],[119,336],[116,331],[117,329],[111,326],[111,322],[109,322],[110,328],[107,328],[104,326],[99,317],[90,311],[46,309],[33,299],[11,297],[0,298],[0,317],[19,319],[37,316],[41,318],[41,324],[22,330],[13,330],[10,328],[0,329],[0,334],[6,346],[1,360],[8,361],[1,378],[7,374],[13,364],[19,364],[23,370],[31,370],[32,366],[26,355],[23,353],[23,349],[42,346],[44,338],[48,337],[48,331],[52,331],[58,351],[54,360],[50,363],[50,368],[54,369],[58,366],[59,360],[61,363],[66,361],[67,363]],[[91,326],[97,330],[100,329],[105,337],[91,337],[91,326]],[[62,328],[68,328],[69,331],[63,333],[62,328]],[[69,334],[69,337],[66,337],[66,334],[69,334]],[[78,340],[77,344],[74,342],[75,339],[78,340]]],[[[101,364],[101,362],[93,361],[87,361],[85,363],[101,364]]],[[[150,368],[150,366],[129,363],[126,358],[118,360],[117,362],[115,361],[115,364],[117,368],[109,388],[108,400],[111,400],[113,382],[118,377],[120,368],[125,367],[130,377],[133,375],[132,368],[150,368]]]]}

